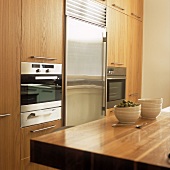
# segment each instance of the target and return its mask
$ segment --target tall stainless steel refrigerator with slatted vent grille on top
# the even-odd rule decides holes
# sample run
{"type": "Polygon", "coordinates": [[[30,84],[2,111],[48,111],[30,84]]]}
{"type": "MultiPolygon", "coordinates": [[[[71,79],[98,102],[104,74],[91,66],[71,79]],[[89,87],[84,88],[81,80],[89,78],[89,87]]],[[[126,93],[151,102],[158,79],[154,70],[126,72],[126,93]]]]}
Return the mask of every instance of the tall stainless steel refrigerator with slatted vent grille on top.
{"type": "Polygon", "coordinates": [[[66,1],[66,115],[75,126],[105,115],[106,7],[66,1]]]}

